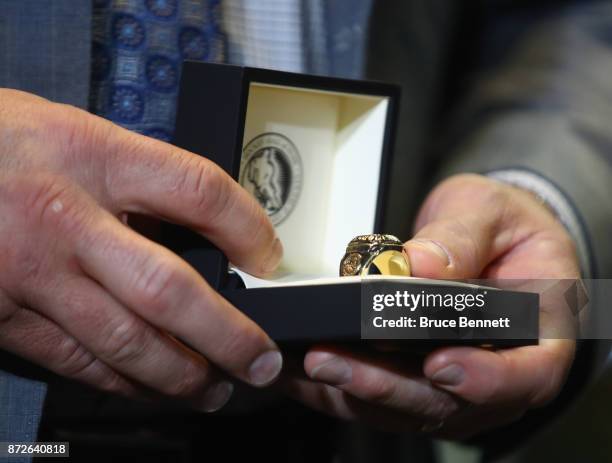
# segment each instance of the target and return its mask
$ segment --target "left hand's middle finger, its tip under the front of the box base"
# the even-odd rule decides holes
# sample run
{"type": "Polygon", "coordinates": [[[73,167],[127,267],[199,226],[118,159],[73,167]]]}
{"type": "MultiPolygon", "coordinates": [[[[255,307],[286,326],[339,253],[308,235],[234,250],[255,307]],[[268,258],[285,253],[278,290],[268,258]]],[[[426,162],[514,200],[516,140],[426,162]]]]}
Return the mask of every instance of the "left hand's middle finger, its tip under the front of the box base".
{"type": "Polygon", "coordinates": [[[266,386],[282,368],[268,335],[184,261],[97,212],[75,239],[80,268],[146,322],[170,333],[232,376],[266,386]]]}

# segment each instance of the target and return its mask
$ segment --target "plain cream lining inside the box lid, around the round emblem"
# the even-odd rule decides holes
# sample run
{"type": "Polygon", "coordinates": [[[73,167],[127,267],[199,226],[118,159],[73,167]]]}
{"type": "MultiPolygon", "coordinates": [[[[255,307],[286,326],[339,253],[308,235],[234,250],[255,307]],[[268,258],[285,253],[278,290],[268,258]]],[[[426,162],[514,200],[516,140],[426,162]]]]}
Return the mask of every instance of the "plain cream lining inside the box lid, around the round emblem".
{"type": "Polygon", "coordinates": [[[251,84],[243,147],[280,133],[302,160],[300,196],[277,226],[285,279],[337,276],[348,242],[373,231],[387,111],[386,97],[251,84]]]}

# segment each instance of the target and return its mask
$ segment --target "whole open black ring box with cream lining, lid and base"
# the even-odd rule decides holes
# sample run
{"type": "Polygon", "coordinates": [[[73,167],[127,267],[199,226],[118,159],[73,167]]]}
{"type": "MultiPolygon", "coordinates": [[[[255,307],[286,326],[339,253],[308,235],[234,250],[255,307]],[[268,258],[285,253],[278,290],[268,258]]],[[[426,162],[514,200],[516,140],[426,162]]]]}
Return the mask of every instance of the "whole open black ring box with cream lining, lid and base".
{"type": "MultiPolygon", "coordinates": [[[[164,244],[279,343],[360,342],[359,281],[303,285],[299,275],[337,275],[351,238],[385,232],[399,98],[399,87],[380,82],[185,62],[175,144],[214,161],[256,196],[283,241],[282,268],[296,283],[245,288],[217,248],[181,227],[168,225],[164,244]]],[[[508,296],[537,336],[537,296],[508,296]]]]}

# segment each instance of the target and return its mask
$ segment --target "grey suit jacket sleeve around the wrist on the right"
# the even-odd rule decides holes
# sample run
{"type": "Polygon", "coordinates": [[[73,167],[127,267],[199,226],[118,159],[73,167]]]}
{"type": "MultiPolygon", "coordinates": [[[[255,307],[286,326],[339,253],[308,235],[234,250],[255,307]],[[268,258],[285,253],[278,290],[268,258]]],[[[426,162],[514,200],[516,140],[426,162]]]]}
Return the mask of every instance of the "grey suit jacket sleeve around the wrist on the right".
{"type": "MultiPolygon", "coordinates": [[[[583,228],[590,254],[584,274],[610,278],[612,4],[543,3],[502,6],[488,17],[483,43],[493,44],[496,54],[485,53],[455,114],[443,173],[525,169],[540,175],[563,193],[583,228]]],[[[552,404],[476,443],[498,453],[533,435],[573,402],[608,352],[608,342],[580,342],[552,404]]]]}

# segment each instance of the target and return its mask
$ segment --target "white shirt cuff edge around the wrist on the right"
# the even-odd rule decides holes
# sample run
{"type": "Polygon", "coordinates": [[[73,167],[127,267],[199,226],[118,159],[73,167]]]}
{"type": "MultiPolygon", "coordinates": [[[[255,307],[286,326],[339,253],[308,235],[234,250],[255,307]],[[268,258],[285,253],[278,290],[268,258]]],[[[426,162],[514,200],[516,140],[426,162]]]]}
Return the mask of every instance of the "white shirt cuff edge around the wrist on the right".
{"type": "Polygon", "coordinates": [[[574,239],[583,278],[591,278],[591,256],[588,235],[571,201],[550,180],[527,169],[511,168],[488,172],[487,177],[522,188],[535,194],[555,213],[574,239]]]}

